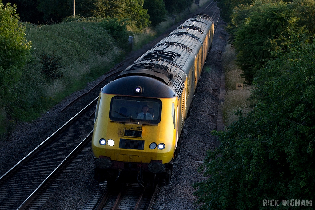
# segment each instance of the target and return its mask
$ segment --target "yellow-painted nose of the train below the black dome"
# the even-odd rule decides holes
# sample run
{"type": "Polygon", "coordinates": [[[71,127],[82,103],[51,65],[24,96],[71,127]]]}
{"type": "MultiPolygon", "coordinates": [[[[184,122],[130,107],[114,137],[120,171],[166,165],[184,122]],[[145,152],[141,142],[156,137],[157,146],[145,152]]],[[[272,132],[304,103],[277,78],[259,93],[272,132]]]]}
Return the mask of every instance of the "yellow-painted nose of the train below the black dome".
{"type": "MultiPolygon", "coordinates": [[[[141,98],[124,98],[117,95],[100,94],[92,142],[95,157],[106,156],[113,161],[120,162],[149,163],[152,160],[161,160],[163,163],[170,162],[174,155],[176,142],[176,130],[172,113],[175,101],[175,98],[154,99],[152,101],[150,99],[141,100],[141,98]],[[121,108],[124,108],[124,106],[110,107],[110,103],[104,103],[104,101],[111,100],[113,103],[116,101],[118,103],[130,103],[134,100],[135,103],[139,103],[139,106],[134,107],[139,111],[133,111],[135,115],[119,112],[118,110],[122,110],[121,108]],[[163,108],[157,110],[152,119],[150,119],[151,116],[148,116],[149,119],[137,119],[137,116],[141,114],[140,109],[146,106],[145,104],[153,104],[152,106],[157,108],[159,108],[158,105],[163,105],[163,108]],[[111,116],[108,116],[108,113],[111,116]],[[115,120],[115,118],[117,119],[115,120]],[[127,118],[128,121],[121,122],[121,119],[118,118],[127,118]]],[[[150,105],[148,106],[149,110],[152,109],[150,105]]],[[[150,114],[150,111],[147,113],[150,114]]]]}

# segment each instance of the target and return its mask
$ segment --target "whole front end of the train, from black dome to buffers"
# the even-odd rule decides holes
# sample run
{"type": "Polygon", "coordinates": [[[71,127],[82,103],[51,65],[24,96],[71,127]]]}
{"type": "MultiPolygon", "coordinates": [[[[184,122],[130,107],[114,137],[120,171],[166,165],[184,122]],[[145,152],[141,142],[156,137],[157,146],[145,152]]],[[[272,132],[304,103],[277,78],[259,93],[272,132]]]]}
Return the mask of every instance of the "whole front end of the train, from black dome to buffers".
{"type": "Polygon", "coordinates": [[[177,98],[168,86],[155,79],[132,79],[139,78],[118,81],[132,88],[131,92],[119,87],[119,94],[111,94],[113,91],[105,86],[100,93],[92,137],[95,168],[163,173],[176,147],[177,98]],[[161,88],[166,88],[168,97],[160,97],[165,91],[154,93],[161,88]]]}

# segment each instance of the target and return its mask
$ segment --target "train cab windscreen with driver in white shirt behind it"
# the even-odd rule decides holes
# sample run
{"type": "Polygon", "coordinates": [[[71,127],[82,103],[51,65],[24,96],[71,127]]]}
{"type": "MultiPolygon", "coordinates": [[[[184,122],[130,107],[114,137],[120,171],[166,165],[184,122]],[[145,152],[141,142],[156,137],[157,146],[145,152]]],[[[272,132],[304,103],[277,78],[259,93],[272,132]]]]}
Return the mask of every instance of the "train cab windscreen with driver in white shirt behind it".
{"type": "Polygon", "coordinates": [[[113,97],[109,118],[112,121],[157,124],[161,121],[161,111],[159,99],[113,97]]]}

